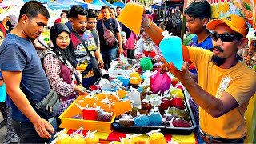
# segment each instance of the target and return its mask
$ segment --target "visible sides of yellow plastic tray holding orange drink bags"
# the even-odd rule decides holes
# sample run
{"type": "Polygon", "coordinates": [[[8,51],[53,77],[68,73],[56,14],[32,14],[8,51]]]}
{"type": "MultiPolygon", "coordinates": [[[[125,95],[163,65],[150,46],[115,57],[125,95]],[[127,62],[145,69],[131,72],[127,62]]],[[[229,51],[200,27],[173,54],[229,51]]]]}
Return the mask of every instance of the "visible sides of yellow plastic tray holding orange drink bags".
{"type": "Polygon", "coordinates": [[[75,105],[76,102],[84,98],[84,96],[79,96],[59,118],[61,119],[61,128],[78,130],[83,126],[83,130],[97,130],[98,132],[110,133],[113,131],[111,124],[114,122],[115,115],[111,122],[93,121],[93,120],[83,120],[71,118],[78,114],[82,115],[82,110],[75,105]]]}

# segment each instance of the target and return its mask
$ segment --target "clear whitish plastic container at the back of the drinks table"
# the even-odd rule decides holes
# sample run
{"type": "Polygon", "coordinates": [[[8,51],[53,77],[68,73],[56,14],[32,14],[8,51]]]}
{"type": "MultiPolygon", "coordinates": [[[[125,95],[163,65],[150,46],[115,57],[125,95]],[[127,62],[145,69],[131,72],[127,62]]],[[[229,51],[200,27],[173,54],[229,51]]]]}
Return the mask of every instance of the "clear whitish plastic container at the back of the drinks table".
{"type": "Polygon", "coordinates": [[[134,71],[136,66],[138,66],[138,62],[136,59],[127,59],[127,64],[122,65],[122,62],[119,58],[115,59],[110,63],[110,68],[108,72],[110,74],[130,74],[134,71]],[[121,65],[120,65],[121,64],[121,65]]]}

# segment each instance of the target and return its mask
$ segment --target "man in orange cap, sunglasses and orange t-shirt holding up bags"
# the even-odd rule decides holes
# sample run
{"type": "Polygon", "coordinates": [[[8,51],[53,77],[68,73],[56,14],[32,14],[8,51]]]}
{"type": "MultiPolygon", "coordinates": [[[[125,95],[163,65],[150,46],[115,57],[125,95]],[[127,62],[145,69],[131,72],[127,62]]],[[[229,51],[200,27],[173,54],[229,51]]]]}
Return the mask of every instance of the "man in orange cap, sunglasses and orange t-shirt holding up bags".
{"type": "MultiPolygon", "coordinates": [[[[162,40],[162,30],[146,18],[142,27],[156,44],[162,40]]],[[[198,70],[198,83],[190,76],[186,63],[182,70],[170,62],[168,70],[186,87],[199,106],[200,131],[207,143],[243,143],[246,138],[244,114],[256,91],[256,73],[238,62],[238,49],[246,46],[248,26],[234,14],[210,21],[213,52],[182,46],[183,60],[198,70]]],[[[170,47],[170,50],[174,47],[170,47]]]]}

